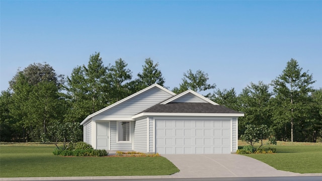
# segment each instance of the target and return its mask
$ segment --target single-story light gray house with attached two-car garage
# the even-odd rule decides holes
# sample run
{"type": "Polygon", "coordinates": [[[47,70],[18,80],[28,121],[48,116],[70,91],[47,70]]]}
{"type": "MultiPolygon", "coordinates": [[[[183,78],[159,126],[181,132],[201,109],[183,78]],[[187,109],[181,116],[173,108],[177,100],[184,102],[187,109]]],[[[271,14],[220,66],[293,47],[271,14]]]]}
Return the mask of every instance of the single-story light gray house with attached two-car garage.
{"type": "Polygon", "coordinates": [[[89,115],[84,142],[95,149],[159,154],[233,153],[238,117],[188,90],[176,95],[153,84],[89,115]]]}

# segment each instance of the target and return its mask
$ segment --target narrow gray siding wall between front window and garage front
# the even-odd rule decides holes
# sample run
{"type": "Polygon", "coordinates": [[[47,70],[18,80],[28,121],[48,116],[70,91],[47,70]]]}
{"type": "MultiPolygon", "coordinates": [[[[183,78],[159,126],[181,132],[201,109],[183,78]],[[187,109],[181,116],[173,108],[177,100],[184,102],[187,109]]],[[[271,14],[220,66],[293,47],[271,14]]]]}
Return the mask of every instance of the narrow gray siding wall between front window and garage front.
{"type": "Polygon", "coordinates": [[[134,150],[147,152],[147,119],[134,122],[134,150]]]}

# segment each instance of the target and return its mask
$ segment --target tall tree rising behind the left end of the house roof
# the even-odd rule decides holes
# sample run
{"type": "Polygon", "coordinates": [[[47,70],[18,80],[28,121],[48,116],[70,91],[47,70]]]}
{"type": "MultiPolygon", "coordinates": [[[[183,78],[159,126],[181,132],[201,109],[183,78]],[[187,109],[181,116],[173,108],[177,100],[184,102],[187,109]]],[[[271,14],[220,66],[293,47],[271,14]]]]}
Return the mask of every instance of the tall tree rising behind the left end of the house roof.
{"type": "Polygon", "coordinates": [[[110,104],[108,70],[100,52],[90,56],[87,66],[77,66],[72,70],[65,86],[70,106],[66,120],[81,122],[110,104]]]}

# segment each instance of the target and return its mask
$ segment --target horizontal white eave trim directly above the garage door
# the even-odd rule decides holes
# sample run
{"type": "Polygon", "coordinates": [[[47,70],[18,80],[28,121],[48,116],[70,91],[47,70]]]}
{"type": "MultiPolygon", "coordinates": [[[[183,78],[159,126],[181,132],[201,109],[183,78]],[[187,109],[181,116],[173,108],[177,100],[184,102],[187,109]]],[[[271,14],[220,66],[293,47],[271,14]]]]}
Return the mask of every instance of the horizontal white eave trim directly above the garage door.
{"type": "Polygon", "coordinates": [[[132,116],[133,120],[145,116],[192,116],[192,117],[240,117],[244,113],[140,113],[132,116]]]}

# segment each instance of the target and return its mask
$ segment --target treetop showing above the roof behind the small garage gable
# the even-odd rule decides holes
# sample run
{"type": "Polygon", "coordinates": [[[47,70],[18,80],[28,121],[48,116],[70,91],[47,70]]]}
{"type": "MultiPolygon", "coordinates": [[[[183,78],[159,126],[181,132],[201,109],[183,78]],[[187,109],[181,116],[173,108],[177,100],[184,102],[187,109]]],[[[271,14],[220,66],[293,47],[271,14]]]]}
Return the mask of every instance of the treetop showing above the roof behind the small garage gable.
{"type": "Polygon", "coordinates": [[[208,73],[205,73],[201,70],[197,70],[196,73],[193,73],[191,69],[187,71],[187,73],[183,74],[182,83],[180,83],[179,87],[173,88],[174,93],[179,94],[182,92],[191,89],[195,92],[207,91],[210,89],[214,89],[216,84],[209,84],[208,81],[208,73]]]}

